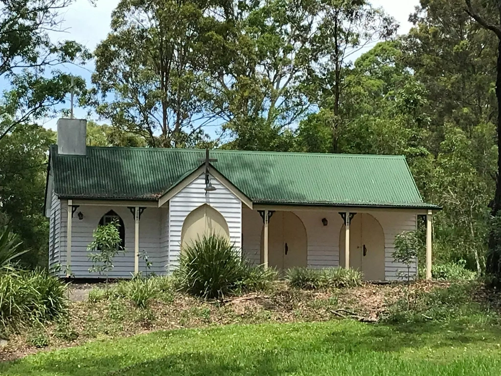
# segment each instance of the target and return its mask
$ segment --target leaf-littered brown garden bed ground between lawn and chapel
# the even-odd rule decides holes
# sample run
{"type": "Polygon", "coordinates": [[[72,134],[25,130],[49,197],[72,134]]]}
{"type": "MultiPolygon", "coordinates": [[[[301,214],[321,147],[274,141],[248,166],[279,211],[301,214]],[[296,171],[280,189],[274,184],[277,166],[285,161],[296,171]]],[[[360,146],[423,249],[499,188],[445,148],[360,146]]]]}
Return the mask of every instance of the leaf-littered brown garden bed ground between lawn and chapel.
{"type": "Polygon", "coordinates": [[[126,337],[154,330],[206,327],[264,322],[327,321],[351,317],[378,321],[388,306],[411,291],[447,287],[447,283],[421,281],[387,285],[308,291],[275,283],[267,292],[236,296],[224,301],[207,301],[169,293],[151,299],[139,308],[126,298],[87,300],[89,291],[104,284],[70,284],[69,316],[59,323],[25,328],[10,333],[0,343],[0,361],[23,357],[48,349],[76,346],[88,341],[126,337]],[[42,335],[48,346],[37,348],[30,337],[42,335]]]}

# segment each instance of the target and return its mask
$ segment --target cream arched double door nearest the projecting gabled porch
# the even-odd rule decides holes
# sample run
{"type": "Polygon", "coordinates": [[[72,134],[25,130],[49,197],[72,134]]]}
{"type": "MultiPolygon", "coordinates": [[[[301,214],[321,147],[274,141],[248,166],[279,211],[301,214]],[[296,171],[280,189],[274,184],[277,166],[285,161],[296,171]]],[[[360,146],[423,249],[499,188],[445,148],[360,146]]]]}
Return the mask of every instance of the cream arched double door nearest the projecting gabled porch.
{"type": "MultiPolygon", "coordinates": [[[[264,257],[264,236],[261,237],[261,262],[264,257]]],[[[270,219],[268,265],[290,269],[307,267],[308,245],[303,222],[292,212],[275,212],[270,219]]]]}

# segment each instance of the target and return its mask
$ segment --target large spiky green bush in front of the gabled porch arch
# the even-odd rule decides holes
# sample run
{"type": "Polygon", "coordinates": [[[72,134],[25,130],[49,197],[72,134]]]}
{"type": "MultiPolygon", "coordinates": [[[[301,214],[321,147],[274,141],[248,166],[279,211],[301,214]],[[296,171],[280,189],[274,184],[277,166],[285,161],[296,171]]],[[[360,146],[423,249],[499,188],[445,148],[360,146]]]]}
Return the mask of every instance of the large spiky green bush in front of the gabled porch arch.
{"type": "Polygon", "coordinates": [[[217,299],[264,289],[276,275],[273,270],[249,266],[229,240],[219,235],[203,236],[186,246],[174,273],[181,290],[217,299]]]}

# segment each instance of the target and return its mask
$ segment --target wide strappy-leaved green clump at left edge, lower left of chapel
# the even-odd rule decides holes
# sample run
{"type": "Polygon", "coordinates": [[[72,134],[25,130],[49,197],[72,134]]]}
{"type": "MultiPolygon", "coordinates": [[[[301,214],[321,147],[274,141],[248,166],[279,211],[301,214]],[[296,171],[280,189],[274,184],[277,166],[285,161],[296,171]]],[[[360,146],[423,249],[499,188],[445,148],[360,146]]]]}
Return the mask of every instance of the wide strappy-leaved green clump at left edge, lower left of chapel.
{"type": "Polygon", "coordinates": [[[53,320],[68,311],[66,286],[43,270],[0,270],[0,325],[53,320]]]}

